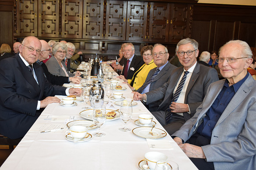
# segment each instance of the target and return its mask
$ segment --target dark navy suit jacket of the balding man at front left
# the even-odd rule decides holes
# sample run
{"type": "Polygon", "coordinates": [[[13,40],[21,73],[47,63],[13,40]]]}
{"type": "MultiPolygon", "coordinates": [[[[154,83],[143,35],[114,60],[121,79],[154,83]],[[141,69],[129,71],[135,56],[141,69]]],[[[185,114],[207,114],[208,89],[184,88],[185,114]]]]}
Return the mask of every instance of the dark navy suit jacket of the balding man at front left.
{"type": "Polygon", "coordinates": [[[0,62],[0,133],[11,139],[31,128],[41,114],[36,108],[43,96],[66,95],[66,87],[49,83],[39,64],[33,68],[39,84],[18,54],[0,62]]]}

